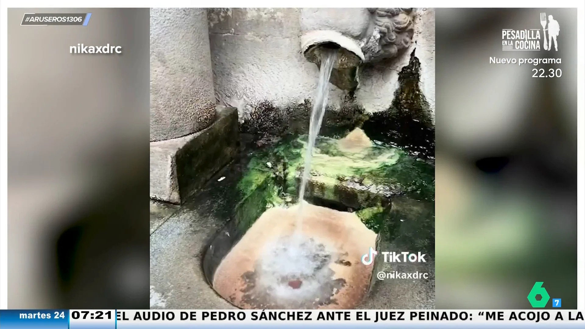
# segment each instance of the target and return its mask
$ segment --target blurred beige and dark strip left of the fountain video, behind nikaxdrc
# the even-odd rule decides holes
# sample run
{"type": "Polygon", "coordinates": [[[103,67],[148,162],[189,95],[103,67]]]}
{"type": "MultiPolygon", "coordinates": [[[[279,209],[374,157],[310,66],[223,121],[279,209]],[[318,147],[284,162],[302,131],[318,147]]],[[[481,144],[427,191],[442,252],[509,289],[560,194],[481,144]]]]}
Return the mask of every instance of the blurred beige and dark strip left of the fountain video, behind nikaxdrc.
{"type": "Polygon", "coordinates": [[[149,308],[149,15],[8,9],[11,309],[149,308]],[[20,26],[25,12],[92,16],[20,26]]]}

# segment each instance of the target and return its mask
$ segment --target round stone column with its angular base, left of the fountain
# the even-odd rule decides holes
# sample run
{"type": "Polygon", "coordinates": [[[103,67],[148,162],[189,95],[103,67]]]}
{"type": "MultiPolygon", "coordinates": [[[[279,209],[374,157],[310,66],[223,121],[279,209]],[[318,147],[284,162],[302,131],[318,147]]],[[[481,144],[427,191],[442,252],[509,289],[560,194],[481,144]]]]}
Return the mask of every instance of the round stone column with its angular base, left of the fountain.
{"type": "Polygon", "coordinates": [[[207,9],[150,9],[150,198],[183,203],[237,139],[237,111],[216,108],[207,9]]]}

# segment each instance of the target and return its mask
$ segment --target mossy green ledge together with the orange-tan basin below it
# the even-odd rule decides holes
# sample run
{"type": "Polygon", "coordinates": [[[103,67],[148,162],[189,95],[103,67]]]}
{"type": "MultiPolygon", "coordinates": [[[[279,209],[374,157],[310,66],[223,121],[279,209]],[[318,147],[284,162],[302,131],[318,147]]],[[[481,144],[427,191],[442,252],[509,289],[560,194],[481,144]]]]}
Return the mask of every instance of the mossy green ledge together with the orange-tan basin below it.
{"type": "Polygon", "coordinates": [[[401,226],[432,211],[434,167],[356,129],[318,138],[302,234],[294,234],[305,140],[249,154],[232,220],[205,249],[207,282],[236,307],[353,309],[367,300],[374,267],[384,266],[365,266],[362,255],[407,237],[401,226]]]}

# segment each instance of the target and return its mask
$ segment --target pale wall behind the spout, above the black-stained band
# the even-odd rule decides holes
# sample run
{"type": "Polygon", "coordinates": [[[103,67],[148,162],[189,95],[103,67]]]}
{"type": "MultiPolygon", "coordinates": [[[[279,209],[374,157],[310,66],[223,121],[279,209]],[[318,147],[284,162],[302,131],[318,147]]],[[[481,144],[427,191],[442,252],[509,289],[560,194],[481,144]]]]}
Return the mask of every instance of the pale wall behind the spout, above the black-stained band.
{"type": "MultiPolygon", "coordinates": [[[[318,67],[301,54],[302,33],[335,29],[359,39],[367,29],[369,15],[366,8],[208,9],[216,98],[238,108],[240,121],[266,102],[275,108],[306,104],[313,97],[318,67]]],[[[390,108],[398,73],[416,49],[421,62],[420,88],[434,116],[434,18],[433,9],[416,9],[414,43],[407,52],[393,61],[364,67],[353,95],[331,86],[332,108],[342,108],[347,102],[368,113],[390,108]]]]}

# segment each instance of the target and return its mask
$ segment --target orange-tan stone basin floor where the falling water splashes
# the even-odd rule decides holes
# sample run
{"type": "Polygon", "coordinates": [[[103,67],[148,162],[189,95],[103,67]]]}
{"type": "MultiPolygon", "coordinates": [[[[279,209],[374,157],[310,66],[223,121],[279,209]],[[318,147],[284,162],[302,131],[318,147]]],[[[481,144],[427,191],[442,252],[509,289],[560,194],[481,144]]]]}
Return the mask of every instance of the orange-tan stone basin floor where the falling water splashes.
{"type": "Polygon", "coordinates": [[[270,208],[215,271],[213,288],[242,309],[353,309],[373,265],[377,234],[352,213],[304,204],[270,208]],[[300,230],[297,231],[297,225],[300,230]]]}

